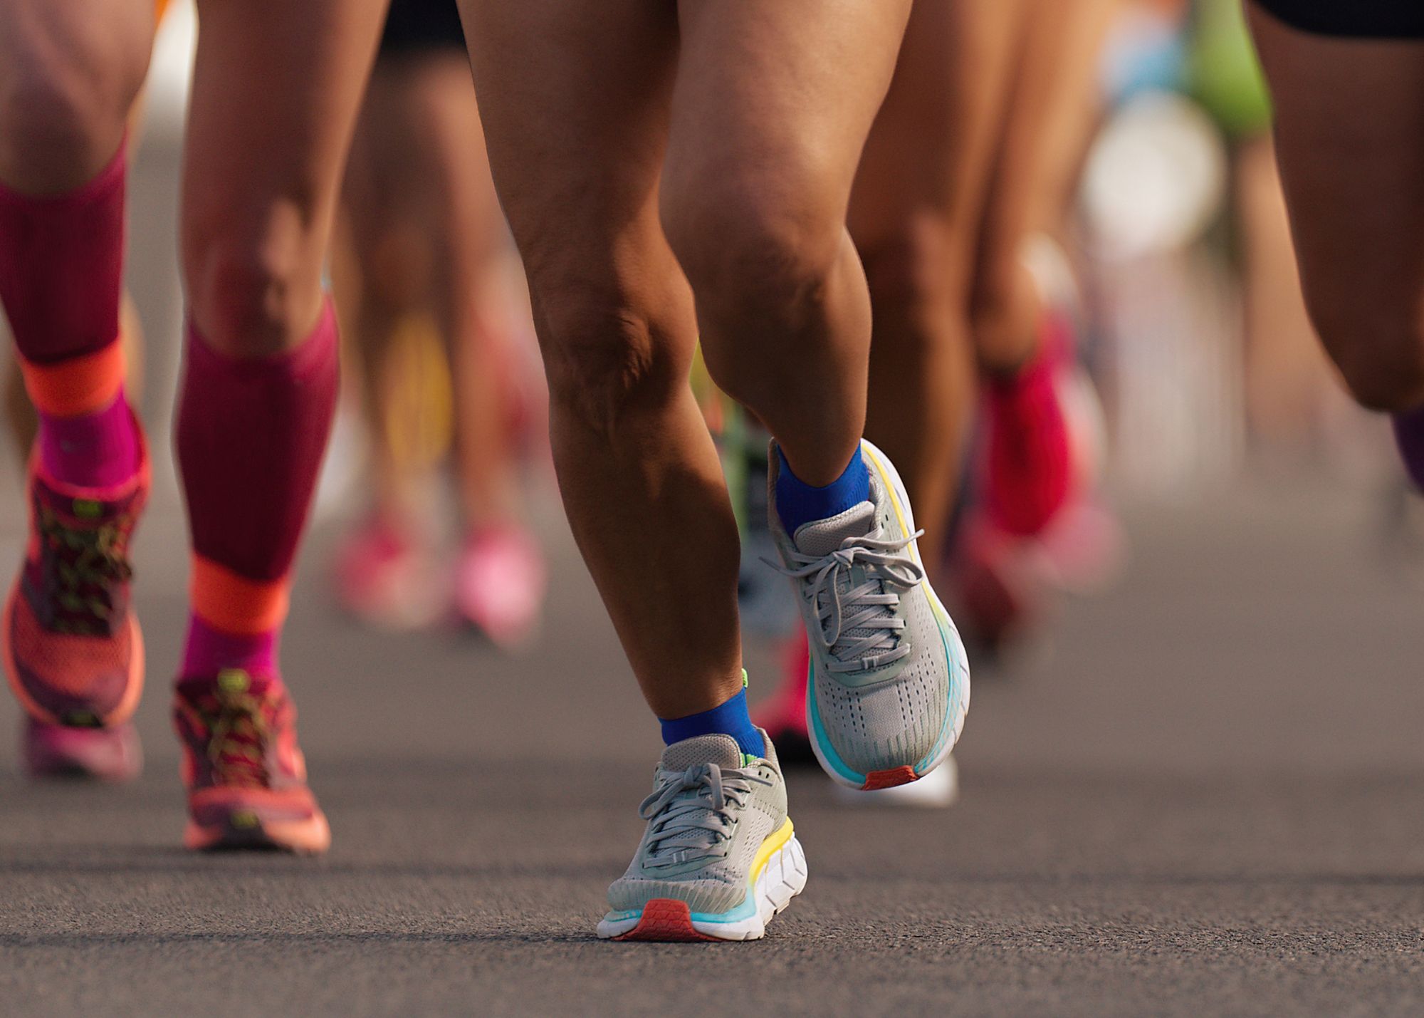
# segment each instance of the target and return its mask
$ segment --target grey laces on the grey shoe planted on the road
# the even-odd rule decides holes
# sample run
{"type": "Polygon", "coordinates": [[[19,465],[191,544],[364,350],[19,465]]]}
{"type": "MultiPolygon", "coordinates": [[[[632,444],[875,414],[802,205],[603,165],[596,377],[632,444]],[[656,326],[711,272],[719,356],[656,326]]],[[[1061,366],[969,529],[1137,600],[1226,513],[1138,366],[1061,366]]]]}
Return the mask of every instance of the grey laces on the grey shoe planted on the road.
{"type": "Polygon", "coordinates": [[[736,823],[732,810],[746,806],[753,784],[772,784],[746,770],[715,763],[692,764],[642,800],[638,816],[652,824],[646,865],[679,865],[726,855],[736,823]]]}

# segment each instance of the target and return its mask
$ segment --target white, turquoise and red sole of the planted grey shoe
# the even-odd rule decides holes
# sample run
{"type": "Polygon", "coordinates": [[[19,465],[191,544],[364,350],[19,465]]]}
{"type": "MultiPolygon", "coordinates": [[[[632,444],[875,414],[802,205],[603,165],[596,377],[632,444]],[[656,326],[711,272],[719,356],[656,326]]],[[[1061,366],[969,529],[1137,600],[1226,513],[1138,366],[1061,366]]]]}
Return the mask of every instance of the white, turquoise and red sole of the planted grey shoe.
{"type": "MultiPolygon", "coordinates": [[[[693,912],[686,901],[654,898],[642,908],[609,912],[598,924],[600,940],[688,942],[760,940],[766,924],[806,887],[806,854],[787,820],[763,845],[766,858],[753,864],[742,904],[721,914],[693,912]],[[768,850],[768,847],[770,847],[768,850]],[[755,904],[753,904],[755,903],[755,904]],[[750,912],[750,914],[746,914],[750,912]]],[[[760,854],[760,853],[759,853],[760,854]]]]}

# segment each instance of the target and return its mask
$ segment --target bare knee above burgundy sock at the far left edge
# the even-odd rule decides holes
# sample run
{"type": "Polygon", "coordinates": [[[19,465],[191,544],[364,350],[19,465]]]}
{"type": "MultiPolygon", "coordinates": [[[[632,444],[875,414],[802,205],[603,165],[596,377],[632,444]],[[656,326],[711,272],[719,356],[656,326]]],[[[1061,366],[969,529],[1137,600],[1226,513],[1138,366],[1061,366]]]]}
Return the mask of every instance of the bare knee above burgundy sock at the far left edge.
{"type": "MultiPolygon", "coordinates": [[[[0,140],[10,173],[71,185],[74,167],[105,158],[142,86],[147,50],[121,44],[20,53],[0,70],[0,140]],[[107,150],[107,151],[101,151],[107,150]]],[[[75,181],[77,184],[78,181],[75,181]]]]}

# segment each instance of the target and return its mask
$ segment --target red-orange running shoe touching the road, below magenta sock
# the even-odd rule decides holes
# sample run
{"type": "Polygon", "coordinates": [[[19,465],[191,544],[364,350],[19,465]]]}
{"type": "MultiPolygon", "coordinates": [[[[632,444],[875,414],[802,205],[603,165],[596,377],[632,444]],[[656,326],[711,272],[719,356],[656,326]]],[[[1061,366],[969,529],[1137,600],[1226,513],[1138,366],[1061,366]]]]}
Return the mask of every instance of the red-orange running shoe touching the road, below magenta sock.
{"type": "Polygon", "coordinates": [[[332,843],[296,746],[296,707],[282,680],[224,669],[182,679],[174,727],[184,749],[188,848],[323,853],[332,843]]]}

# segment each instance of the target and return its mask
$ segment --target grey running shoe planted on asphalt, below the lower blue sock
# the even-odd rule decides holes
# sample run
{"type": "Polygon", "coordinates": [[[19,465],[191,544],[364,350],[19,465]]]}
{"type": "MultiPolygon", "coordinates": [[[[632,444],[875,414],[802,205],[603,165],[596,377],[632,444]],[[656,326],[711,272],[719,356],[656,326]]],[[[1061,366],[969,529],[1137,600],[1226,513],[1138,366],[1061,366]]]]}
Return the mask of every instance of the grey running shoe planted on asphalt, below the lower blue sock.
{"type": "Polygon", "coordinates": [[[638,816],[648,828],[608,888],[604,940],[759,940],[806,887],[770,739],[765,757],[731,736],[674,743],[638,816]]]}

